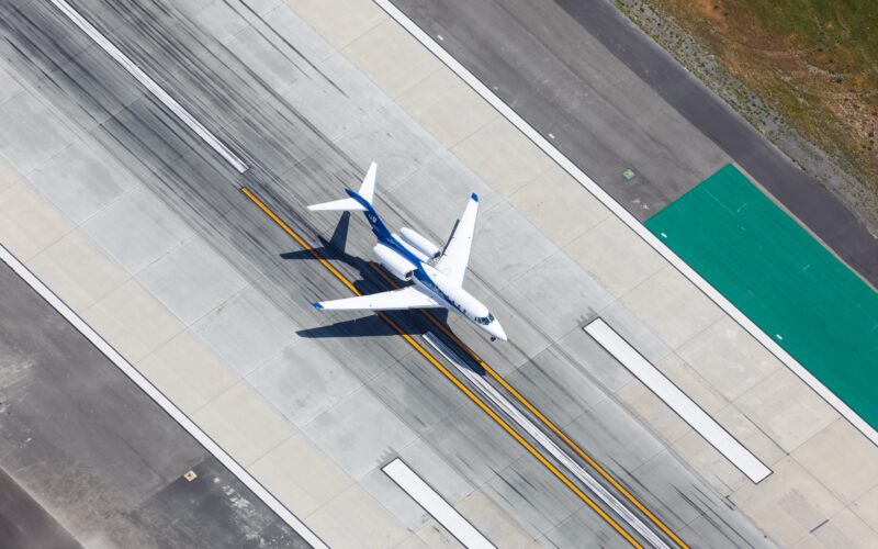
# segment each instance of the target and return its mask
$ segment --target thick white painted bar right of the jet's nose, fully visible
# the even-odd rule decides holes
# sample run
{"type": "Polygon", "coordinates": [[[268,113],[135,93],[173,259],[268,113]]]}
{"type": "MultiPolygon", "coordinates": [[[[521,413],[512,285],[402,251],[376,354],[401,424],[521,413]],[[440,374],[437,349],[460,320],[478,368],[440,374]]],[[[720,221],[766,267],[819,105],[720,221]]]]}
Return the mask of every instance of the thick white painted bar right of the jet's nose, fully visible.
{"type": "Polygon", "coordinates": [[[732,462],[742,473],[753,482],[759,482],[772,470],[753,455],[744,445],[738,441],[710,415],[701,410],[689,396],[679,390],[664,373],[658,371],[643,355],[638,352],[631,344],[626,341],[603,318],[596,318],[585,328],[595,340],[600,344],[616,360],[621,362],[628,371],[639,379],[650,391],[658,396],[665,404],[698,432],[710,446],[716,448],[725,459],[732,462]]]}

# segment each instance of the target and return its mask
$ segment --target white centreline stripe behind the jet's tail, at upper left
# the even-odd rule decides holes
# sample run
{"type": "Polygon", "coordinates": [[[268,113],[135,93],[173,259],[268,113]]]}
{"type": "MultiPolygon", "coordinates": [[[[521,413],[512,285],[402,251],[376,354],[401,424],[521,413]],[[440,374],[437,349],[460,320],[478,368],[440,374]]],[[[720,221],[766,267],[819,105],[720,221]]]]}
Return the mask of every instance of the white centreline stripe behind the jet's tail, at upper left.
{"type": "Polygon", "coordinates": [[[65,0],[50,0],[50,2],[60,10],[61,13],[67,15],[67,18],[74,22],[82,32],[89,35],[91,40],[93,40],[99,46],[103,48],[104,52],[110,54],[110,56],[116,60],[122,68],[128,71],[131,76],[137,79],[138,82],[143,85],[144,88],[149,90],[153,96],[156,97],[159,101],[161,101],[165,107],[171,110],[172,113],[177,115],[185,125],[189,126],[190,130],[195,132],[199,137],[201,137],[204,143],[210,145],[219,156],[225,158],[225,160],[230,164],[238,172],[244,173],[247,171],[248,166],[244,164],[244,161],[235,156],[232,150],[226,147],[223,142],[221,142],[214,134],[212,134],[206,127],[204,127],[201,122],[195,120],[189,111],[187,111],[180,103],[177,102],[176,99],[170,97],[167,91],[165,91],[161,86],[156,83],[155,80],[149,78],[149,76],[140,70],[134,61],[132,61],[128,56],[122,53],[112,42],[106,40],[106,37],[101,34],[91,23],[86,21],[86,19],[79,14],[69,3],[65,0]]]}

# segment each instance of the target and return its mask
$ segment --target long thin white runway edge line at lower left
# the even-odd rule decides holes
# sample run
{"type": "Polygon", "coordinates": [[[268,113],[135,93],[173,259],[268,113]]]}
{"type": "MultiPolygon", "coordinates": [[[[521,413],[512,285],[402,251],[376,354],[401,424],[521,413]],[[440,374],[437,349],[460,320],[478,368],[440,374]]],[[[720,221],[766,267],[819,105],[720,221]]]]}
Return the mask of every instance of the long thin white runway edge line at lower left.
{"type": "Polygon", "coordinates": [[[269,492],[262,484],[256,480],[244,467],[241,467],[235,458],[229,456],[206,433],[201,430],[201,427],[189,418],[180,408],[177,407],[165,394],[156,388],[149,380],[147,380],[139,371],[137,371],[131,362],[125,359],[112,345],[101,337],[91,326],[88,325],[67,303],[58,298],[40,278],[31,272],[19,259],[12,255],[2,244],[0,244],[0,259],[3,260],[24,282],[30,285],[46,303],[52,305],[64,318],[67,320],[86,339],[91,341],[98,350],[100,350],[122,373],[133,381],[144,393],[147,394],[153,401],[161,406],[168,415],[170,415],[187,433],[201,444],[204,449],[211,452],[223,466],[225,466],[232,474],[240,480],[244,485],[252,491],[262,503],[273,511],[281,520],[286,523],[296,534],[312,545],[315,549],[328,549],[327,545],[317,537],[302,520],[300,520],[293,513],[288,509],[271,492],[269,492]]]}

